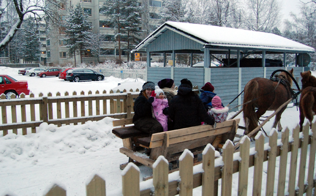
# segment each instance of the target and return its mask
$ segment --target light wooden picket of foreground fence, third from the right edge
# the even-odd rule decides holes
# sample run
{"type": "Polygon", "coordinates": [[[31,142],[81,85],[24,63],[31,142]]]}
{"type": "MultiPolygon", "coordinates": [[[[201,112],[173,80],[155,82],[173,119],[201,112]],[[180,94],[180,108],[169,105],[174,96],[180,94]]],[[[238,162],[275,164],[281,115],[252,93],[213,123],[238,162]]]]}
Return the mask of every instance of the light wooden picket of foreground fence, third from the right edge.
{"type": "Polygon", "coordinates": [[[295,179],[296,179],[296,168],[297,168],[297,155],[298,155],[298,145],[299,145],[299,133],[300,127],[297,125],[292,131],[293,143],[291,149],[291,162],[290,162],[290,174],[288,182],[288,193],[289,196],[295,195],[295,179]]]}

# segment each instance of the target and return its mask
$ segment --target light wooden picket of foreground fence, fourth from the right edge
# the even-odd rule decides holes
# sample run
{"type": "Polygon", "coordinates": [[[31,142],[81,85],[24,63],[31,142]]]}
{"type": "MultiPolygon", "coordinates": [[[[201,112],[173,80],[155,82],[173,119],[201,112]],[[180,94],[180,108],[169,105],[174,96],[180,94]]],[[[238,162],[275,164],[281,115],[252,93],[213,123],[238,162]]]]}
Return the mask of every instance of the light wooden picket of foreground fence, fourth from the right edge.
{"type": "Polygon", "coordinates": [[[288,154],[288,136],[290,130],[286,128],[282,131],[282,149],[280,152],[280,163],[278,170],[278,183],[277,183],[277,196],[285,195],[285,180],[286,180],[286,166],[287,166],[287,154],[288,154]]]}

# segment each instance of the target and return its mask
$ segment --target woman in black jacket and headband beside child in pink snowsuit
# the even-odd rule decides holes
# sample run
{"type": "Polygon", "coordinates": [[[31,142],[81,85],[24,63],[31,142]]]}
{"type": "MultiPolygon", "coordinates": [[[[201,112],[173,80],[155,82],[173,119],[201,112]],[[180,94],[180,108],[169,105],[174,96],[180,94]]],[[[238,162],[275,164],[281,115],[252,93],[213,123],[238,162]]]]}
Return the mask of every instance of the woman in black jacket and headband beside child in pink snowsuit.
{"type": "Polygon", "coordinates": [[[134,104],[134,126],[136,129],[149,134],[163,131],[161,124],[153,118],[152,102],[154,102],[154,98],[151,95],[154,90],[155,84],[153,82],[144,83],[134,104]]]}

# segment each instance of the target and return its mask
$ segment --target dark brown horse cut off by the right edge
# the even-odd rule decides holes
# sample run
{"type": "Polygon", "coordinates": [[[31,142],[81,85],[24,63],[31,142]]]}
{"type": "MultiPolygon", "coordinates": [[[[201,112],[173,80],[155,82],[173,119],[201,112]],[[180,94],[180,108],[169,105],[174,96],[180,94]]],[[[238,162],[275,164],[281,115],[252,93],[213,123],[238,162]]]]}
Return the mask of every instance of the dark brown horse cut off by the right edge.
{"type": "Polygon", "coordinates": [[[309,120],[312,128],[312,121],[316,113],[316,77],[312,76],[311,71],[301,72],[301,76],[303,90],[300,98],[300,131],[303,130],[305,117],[309,120]]]}

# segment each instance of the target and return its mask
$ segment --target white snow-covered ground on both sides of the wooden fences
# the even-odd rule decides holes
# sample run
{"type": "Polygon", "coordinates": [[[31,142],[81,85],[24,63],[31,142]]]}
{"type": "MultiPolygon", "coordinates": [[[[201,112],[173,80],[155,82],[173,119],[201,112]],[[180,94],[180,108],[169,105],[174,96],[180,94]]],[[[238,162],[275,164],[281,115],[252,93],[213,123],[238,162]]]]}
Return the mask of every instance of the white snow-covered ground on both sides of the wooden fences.
{"type": "MultiPolygon", "coordinates": [[[[51,92],[63,94],[65,91],[102,92],[117,89],[118,83],[129,87],[141,88],[144,81],[135,79],[121,80],[107,77],[104,81],[66,82],[58,77],[30,77],[17,74],[17,68],[0,67],[1,74],[8,74],[17,80],[27,80],[29,88],[36,95],[51,92]],[[128,83],[131,83],[129,85],[128,83]],[[140,86],[140,87],[139,87],[140,86]]],[[[298,73],[296,73],[298,74],[298,73]]],[[[162,78],[161,78],[162,79],[162,78]]],[[[119,88],[118,88],[119,89],[119,88]]],[[[133,88],[134,89],[134,88],[133,88]]],[[[136,89],[136,88],[135,88],[136,89]]],[[[220,96],[220,95],[219,95],[220,96]]],[[[229,115],[234,115],[231,112],[229,115]]],[[[272,114],[267,112],[265,116],[272,114]]],[[[229,116],[229,117],[230,117],[229,116]]],[[[239,114],[237,118],[242,118],[239,114]]],[[[119,164],[126,163],[128,158],[119,153],[121,139],[112,134],[112,118],[98,122],[87,122],[83,125],[69,125],[57,128],[55,125],[43,123],[37,133],[28,135],[0,133],[0,196],[39,196],[47,192],[54,184],[64,187],[68,196],[84,196],[85,184],[91,176],[98,174],[106,180],[107,195],[121,195],[121,170],[119,164]]],[[[274,119],[264,126],[269,134],[274,119]]],[[[299,122],[296,107],[288,107],[282,114],[281,124],[292,129],[299,122]]],[[[243,125],[241,120],[240,125],[243,125]]],[[[241,130],[238,131],[239,133],[241,130]]],[[[278,132],[279,138],[281,133],[278,132]]],[[[268,141],[268,138],[266,139],[268,141]]],[[[251,142],[254,147],[254,142],[251,142]]],[[[278,161],[276,165],[278,172],[278,161]]],[[[140,166],[140,179],[152,175],[152,169],[140,166]]],[[[265,168],[267,166],[265,164],[265,168]]],[[[307,177],[307,176],[306,176],[307,177]]],[[[233,195],[237,195],[237,178],[234,174],[233,195]]],[[[265,193],[265,176],[263,177],[262,194],[265,193]]],[[[248,195],[252,190],[252,171],[249,170],[248,195]]],[[[277,175],[276,175],[277,179],[277,175]]],[[[287,189],[286,189],[287,190],[287,189]]],[[[194,195],[200,195],[201,189],[195,189],[194,195]]],[[[276,186],[275,186],[276,193],[276,186]]]]}

